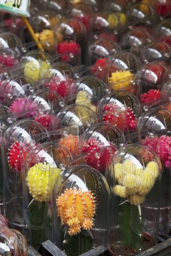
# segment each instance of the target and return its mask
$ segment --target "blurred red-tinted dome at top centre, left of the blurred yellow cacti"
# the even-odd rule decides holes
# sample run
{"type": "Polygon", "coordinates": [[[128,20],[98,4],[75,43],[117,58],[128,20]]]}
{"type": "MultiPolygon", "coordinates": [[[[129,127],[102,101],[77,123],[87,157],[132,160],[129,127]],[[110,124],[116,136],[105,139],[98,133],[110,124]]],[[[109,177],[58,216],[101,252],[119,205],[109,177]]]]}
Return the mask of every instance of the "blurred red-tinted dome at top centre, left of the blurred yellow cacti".
{"type": "Polygon", "coordinates": [[[93,17],[91,6],[78,3],[72,7],[71,16],[77,20],[80,20],[86,27],[87,31],[89,30],[91,18],[93,17]]]}

